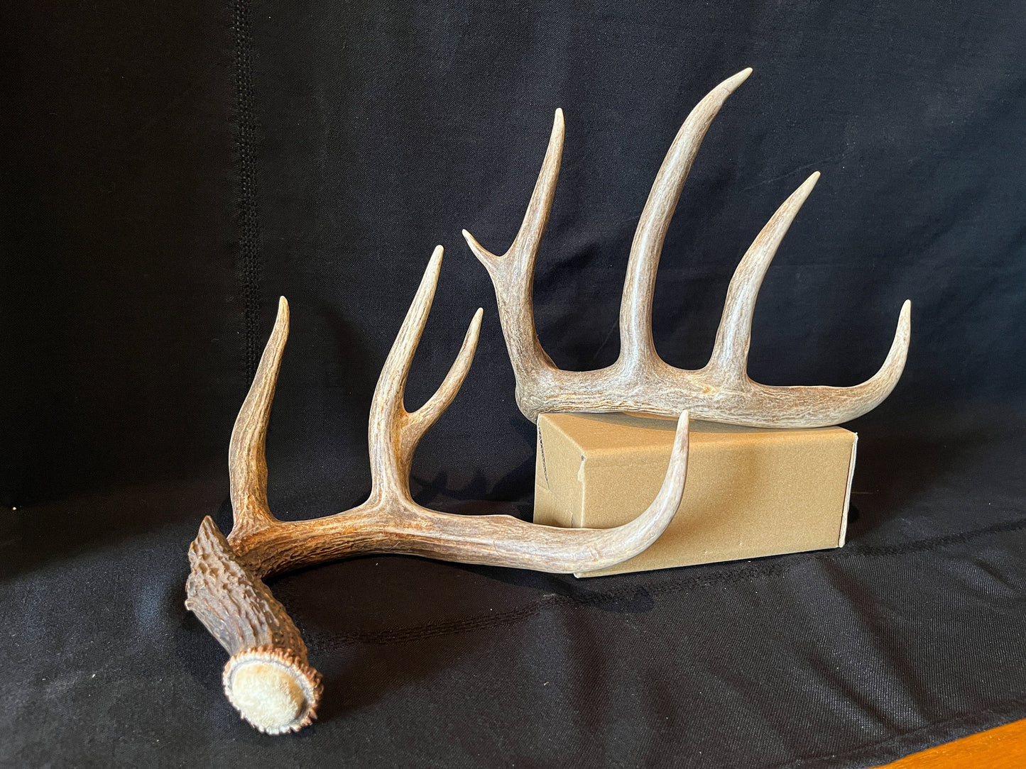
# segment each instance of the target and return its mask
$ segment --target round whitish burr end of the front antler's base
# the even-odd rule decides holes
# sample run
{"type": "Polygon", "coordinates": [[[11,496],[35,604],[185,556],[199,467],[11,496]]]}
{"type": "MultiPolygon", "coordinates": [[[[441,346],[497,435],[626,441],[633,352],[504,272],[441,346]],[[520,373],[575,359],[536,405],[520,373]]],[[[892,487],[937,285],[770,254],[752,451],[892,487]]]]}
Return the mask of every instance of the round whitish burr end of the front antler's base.
{"type": "Polygon", "coordinates": [[[299,731],[317,716],[320,674],[290,651],[262,646],[228,660],[222,678],[228,701],[267,734],[299,731]]]}

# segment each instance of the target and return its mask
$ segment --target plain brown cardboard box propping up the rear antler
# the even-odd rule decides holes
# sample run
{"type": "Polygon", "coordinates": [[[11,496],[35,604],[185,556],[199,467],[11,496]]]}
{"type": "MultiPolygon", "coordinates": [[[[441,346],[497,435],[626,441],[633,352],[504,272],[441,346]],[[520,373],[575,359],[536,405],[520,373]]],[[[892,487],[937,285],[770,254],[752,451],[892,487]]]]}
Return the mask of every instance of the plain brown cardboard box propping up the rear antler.
{"type": "MultiPolygon", "coordinates": [[[[676,419],[542,414],[535,523],[608,528],[644,512],[663,483],[676,419]]],[[[687,484],[655,544],[598,576],[844,543],[858,436],[693,421],[687,484]]]]}

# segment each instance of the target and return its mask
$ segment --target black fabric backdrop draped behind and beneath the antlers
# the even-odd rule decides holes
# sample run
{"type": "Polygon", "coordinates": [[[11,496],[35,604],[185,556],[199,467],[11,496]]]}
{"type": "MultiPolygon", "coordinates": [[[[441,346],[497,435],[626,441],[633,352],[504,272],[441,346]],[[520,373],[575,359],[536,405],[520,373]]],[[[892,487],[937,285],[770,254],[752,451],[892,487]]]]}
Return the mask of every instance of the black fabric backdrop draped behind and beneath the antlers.
{"type": "Polygon", "coordinates": [[[389,4],[0,9],[0,762],[10,766],[856,767],[1026,717],[1026,74],[1021,4],[389,4]],[[271,738],[183,607],[273,320],[282,518],[369,486],[378,371],[447,248],[407,403],[478,306],[419,501],[529,517],[534,430],[466,227],[502,251],[552,111],[538,265],[564,368],[617,355],[633,227],[690,108],[753,76],[670,229],[655,336],[702,365],[741,253],[823,172],[770,271],[750,373],[852,385],[912,347],[860,433],[850,544],[577,581],[412,558],[277,580],[325,675],[271,738]]]}

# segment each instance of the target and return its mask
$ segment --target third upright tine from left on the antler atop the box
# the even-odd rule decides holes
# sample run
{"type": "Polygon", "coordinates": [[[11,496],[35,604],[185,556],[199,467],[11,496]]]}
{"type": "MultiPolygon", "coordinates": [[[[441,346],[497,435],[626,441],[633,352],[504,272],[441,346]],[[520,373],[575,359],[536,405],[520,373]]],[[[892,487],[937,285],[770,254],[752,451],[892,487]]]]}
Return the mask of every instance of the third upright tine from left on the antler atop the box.
{"type": "Polygon", "coordinates": [[[748,378],[746,367],[752,336],[752,316],[762,279],[781,241],[819,177],[820,172],[816,171],[791,193],[770,217],[770,221],[762,228],[734,272],[726,289],[723,315],[716,331],[712,356],[705,368],[723,387],[740,387],[748,378]]]}

